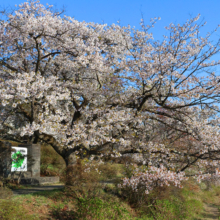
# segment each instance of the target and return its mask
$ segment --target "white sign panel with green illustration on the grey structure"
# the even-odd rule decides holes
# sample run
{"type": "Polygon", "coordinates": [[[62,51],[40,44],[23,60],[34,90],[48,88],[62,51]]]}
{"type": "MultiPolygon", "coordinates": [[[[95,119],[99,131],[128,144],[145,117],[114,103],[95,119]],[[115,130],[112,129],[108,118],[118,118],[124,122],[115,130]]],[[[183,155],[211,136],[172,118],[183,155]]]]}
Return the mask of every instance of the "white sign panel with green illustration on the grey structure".
{"type": "Polygon", "coordinates": [[[11,171],[27,171],[27,148],[12,147],[11,153],[12,166],[11,171]]]}

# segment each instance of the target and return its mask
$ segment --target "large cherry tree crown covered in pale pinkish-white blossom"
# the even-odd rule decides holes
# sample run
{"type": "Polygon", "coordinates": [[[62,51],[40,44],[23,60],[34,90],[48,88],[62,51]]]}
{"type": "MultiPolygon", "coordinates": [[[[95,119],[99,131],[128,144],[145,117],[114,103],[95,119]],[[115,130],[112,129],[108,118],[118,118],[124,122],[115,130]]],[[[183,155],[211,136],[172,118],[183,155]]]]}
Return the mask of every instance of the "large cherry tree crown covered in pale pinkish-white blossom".
{"type": "Polygon", "coordinates": [[[67,165],[80,149],[138,153],[157,175],[204,176],[220,159],[220,62],[210,61],[220,42],[200,36],[198,19],[155,41],[157,19],[136,30],[21,4],[0,24],[2,137],[51,144],[67,165]]]}

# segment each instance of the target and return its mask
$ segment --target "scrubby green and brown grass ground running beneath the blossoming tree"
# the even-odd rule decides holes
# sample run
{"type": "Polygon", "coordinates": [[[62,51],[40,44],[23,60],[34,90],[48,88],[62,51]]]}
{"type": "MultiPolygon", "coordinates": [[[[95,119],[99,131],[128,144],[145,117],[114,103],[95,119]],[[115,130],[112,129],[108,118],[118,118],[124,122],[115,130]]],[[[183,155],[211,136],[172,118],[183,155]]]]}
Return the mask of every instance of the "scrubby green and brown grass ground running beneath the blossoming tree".
{"type": "Polygon", "coordinates": [[[183,189],[170,187],[155,191],[140,207],[121,198],[114,184],[107,184],[104,189],[97,185],[92,193],[86,191],[85,186],[84,194],[78,194],[78,197],[74,194],[77,190],[64,188],[1,199],[0,219],[196,220],[205,216],[205,203],[220,208],[220,187],[201,190],[193,181],[186,182],[183,189]],[[151,197],[158,198],[154,204],[150,203],[151,197]]]}

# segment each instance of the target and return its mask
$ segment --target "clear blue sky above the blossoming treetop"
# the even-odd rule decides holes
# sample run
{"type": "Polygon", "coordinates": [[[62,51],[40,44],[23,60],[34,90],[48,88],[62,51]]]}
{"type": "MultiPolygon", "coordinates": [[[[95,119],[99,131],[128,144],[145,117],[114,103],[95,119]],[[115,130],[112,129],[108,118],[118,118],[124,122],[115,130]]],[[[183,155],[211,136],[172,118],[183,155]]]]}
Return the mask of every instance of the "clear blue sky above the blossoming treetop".
{"type": "MultiPolygon", "coordinates": [[[[23,0],[0,0],[0,7],[14,7],[23,0]]],[[[145,23],[150,18],[161,17],[153,30],[155,38],[160,38],[169,23],[183,23],[198,13],[207,21],[204,33],[212,31],[220,24],[220,0],[41,0],[42,4],[66,8],[66,14],[79,21],[112,24],[120,20],[121,25],[139,27],[143,17],[145,23]]],[[[220,36],[220,34],[219,34],[220,36]]]]}

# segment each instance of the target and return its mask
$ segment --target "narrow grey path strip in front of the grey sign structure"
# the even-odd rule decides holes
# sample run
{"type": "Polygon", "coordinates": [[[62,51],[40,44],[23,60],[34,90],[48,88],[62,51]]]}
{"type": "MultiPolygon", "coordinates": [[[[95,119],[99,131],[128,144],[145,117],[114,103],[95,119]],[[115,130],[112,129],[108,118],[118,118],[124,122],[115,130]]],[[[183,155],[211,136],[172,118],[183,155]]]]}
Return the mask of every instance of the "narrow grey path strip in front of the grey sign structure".
{"type": "Polygon", "coordinates": [[[36,192],[43,192],[43,191],[62,189],[62,188],[64,188],[64,185],[30,186],[26,189],[14,189],[12,191],[14,195],[24,195],[24,194],[31,194],[36,192]]]}

